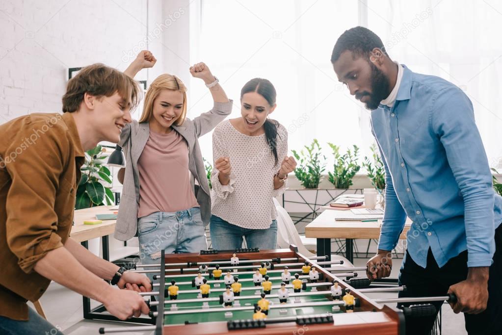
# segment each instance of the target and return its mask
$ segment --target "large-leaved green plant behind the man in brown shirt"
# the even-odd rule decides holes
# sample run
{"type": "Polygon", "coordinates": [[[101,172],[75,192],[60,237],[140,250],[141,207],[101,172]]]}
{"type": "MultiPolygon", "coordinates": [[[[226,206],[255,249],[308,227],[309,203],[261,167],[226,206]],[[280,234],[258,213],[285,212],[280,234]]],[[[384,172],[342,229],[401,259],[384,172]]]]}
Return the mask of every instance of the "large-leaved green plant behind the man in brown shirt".
{"type": "Polygon", "coordinates": [[[111,184],[111,173],[104,166],[105,155],[102,154],[101,145],[85,152],[85,163],[80,169],[82,176],[77,188],[75,209],[94,206],[110,206],[114,203],[113,192],[104,187],[103,183],[111,184]]]}

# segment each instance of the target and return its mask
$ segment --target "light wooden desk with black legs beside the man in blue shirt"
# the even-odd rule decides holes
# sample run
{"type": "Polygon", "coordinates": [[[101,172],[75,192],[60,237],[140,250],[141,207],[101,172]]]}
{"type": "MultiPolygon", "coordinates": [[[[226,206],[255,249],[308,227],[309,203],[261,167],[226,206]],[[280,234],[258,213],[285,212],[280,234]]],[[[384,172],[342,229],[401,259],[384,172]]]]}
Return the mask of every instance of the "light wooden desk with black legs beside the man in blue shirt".
{"type": "MultiPolygon", "coordinates": [[[[354,239],[378,239],[380,237],[379,222],[339,221],[335,217],[349,216],[350,211],[326,210],[305,227],[305,236],[317,239],[317,255],[331,255],[331,239],[345,239],[345,258],[353,261],[354,239]]],[[[407,219],[400,239],[406,239],[411,221],[407,219]]]]}

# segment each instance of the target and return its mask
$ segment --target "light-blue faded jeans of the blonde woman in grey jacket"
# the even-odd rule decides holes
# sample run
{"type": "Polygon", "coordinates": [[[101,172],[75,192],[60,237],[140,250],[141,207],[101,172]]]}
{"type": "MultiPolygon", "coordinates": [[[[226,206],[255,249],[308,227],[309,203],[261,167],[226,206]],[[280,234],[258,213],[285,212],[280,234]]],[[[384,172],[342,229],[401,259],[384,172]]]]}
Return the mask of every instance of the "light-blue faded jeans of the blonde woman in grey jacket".
{"type": "MultiPolygon", "coordinates": [[[[160,263],[162,249],[166,254],[207,250],[205,227],[198,207],[173,213],[156,212],[140,218],[138,238],[143,264],[160,263]]],[[[149,278],[152,280],[151,275],[149,278]]]]}

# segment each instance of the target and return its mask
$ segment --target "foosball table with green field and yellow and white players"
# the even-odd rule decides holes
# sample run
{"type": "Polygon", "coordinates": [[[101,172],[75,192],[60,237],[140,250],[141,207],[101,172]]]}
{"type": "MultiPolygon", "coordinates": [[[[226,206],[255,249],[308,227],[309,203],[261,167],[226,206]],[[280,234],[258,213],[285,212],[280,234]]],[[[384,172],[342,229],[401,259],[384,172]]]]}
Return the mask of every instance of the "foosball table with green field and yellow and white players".
{"type": "Polygon", "coordinates": [[[358,277],[366,268],[346,267],[328,257],[305,257],[290,249],[162,252],[160,264],[138,264],[154,273],[148,298],[155,325],[100,328],[100,333],[154,330],[162,334],[404,334],[405,319],[435,313],[432,304],[454,296],[370,299],[358,277]],[[403,304],[401,308],[396,303],[403,304]],[[412,305],[410,305],[410,303],[412,305]],[[392,305],[391,305],[392,304],[392,305]],[[406,307],[405,307],[406,306],[406,307]]]}

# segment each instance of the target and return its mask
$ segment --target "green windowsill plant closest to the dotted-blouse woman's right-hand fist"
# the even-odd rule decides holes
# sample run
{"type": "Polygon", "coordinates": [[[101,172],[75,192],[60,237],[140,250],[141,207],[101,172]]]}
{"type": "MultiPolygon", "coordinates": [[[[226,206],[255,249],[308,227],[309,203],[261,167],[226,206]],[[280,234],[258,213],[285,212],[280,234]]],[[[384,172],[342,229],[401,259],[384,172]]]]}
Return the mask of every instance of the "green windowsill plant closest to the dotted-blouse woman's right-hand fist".
{"type": "Polygon", "coordinates": [[[326,167],[326,157],[321,153],[321,146],[317,139],[314,139],[310,146],[304,146],[300,153],[291,150],[295,156],[298,166],[295,169],[295,176],[306,189],[316,189],[321,182],[321,175],[326,167]]]}

